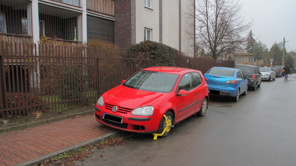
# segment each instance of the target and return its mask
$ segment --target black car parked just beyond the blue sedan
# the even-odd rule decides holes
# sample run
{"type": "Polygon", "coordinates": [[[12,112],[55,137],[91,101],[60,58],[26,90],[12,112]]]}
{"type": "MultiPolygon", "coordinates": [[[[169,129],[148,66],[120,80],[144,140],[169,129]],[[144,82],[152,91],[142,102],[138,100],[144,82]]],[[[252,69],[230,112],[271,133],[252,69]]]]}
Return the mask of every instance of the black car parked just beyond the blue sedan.
{"type": "Polygon", "coordinates": [[[244,76],[248,76],[248,86],[252,88],[253,91],[256,90],[256,87],[261,86],[261,73],[258,69],[258,66],[256,65],[242,65],[242,64],[236,64],[234,66],[236,69],[240,69],[244,76]]]}

